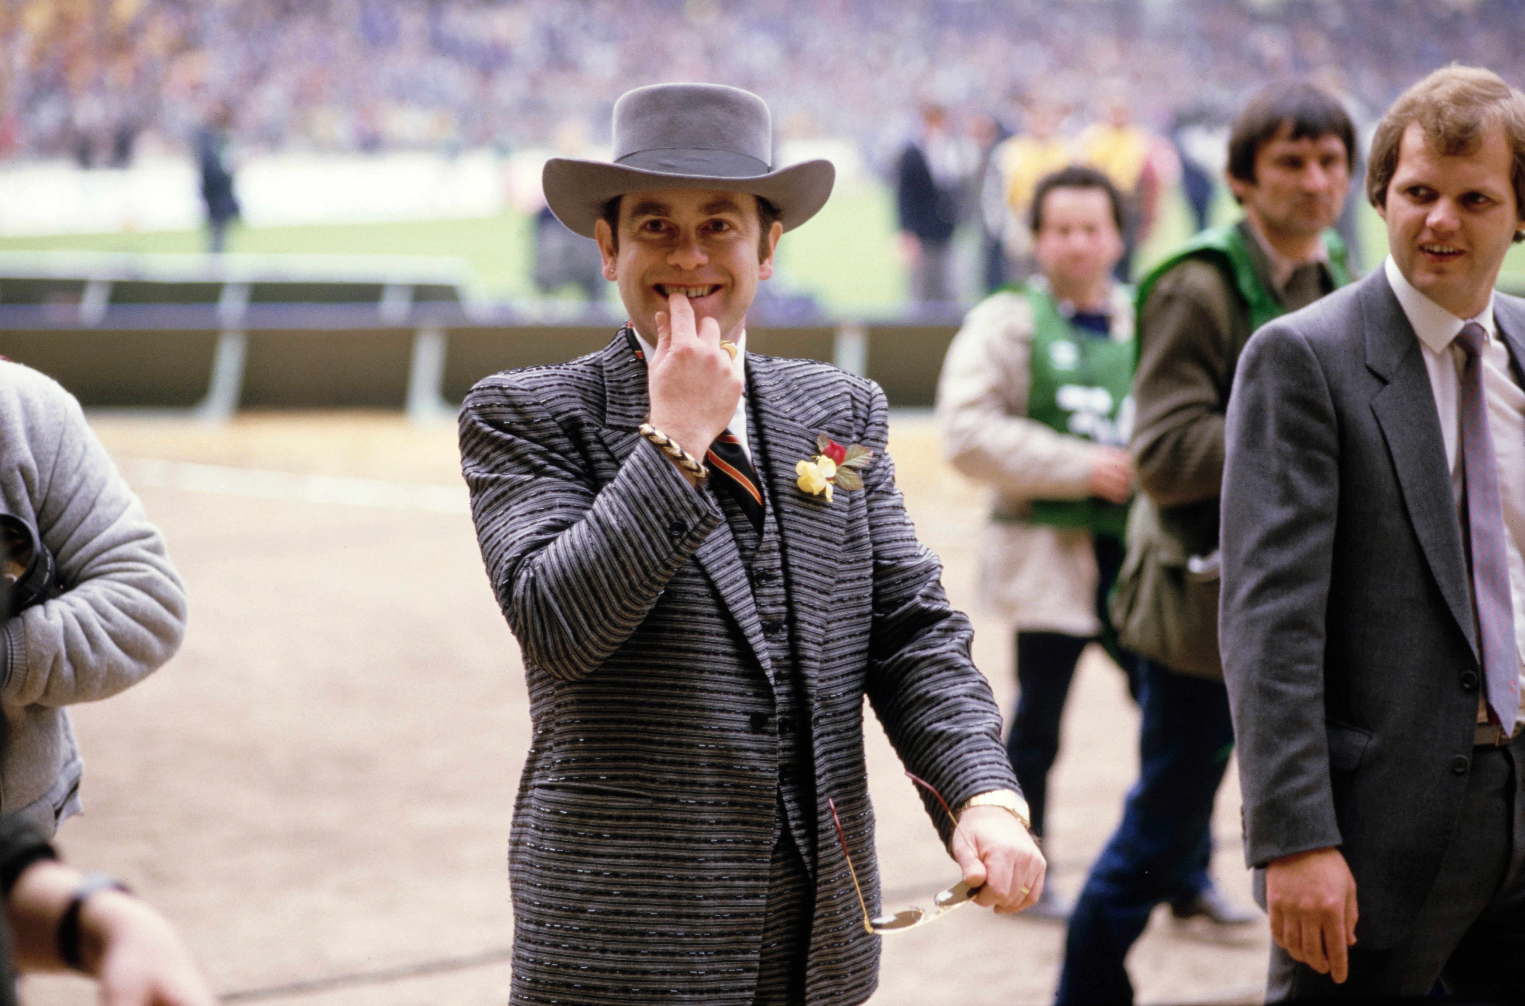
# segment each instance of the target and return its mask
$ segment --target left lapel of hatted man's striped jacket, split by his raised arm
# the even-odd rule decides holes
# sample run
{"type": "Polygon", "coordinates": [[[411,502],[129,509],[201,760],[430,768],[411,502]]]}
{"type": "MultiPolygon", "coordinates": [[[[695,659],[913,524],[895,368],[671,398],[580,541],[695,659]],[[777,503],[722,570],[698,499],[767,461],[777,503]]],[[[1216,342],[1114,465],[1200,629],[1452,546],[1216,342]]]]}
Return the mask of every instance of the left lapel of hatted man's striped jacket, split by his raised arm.
{"type": "MultiPolygon", "coordinates": [[[[640,442],[639,427],[651,412],[647,366],[630,351],[624,332],[601,355],[604,364],[604,427],[598,433],[615,456],[615,463],[622,465],[640,442]]],[[[694,453],[694,448],[688,450],[694,453]]],[[[724,521],[698,546],[694,552],[694,561],[705,570],[705,576],[720,594],[720,601],[741,630],[747,645],[752,646],[752,652],[762,663],[762,669],[770,671],[772,662],[767,657],[762,622],[752,599],[752,584],[747,582],[747,570],[741,562],[737,540],[724,521]]]]}

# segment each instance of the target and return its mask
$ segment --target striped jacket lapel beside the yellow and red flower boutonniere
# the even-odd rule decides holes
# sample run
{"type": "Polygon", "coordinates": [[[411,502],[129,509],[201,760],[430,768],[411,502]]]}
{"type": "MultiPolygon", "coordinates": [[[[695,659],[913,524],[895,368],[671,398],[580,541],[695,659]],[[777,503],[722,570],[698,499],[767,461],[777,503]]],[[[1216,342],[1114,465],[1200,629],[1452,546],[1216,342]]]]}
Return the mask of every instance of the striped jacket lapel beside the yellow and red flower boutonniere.
{"type": "Polygon", "coordinates": [[[752,460],[767,486],[769,506],[776,509],[795,652],[804,672],[805,701],[813,706],[848,501],[837,495],[834,503],[827,503],[825,495],[807,494],[798,485],[795,465],[814,457],[816,434],[827,433],[845,442],[848,428],[819,402],[799,395],[778,373],[778,361],[772,358],[747,355],[747,380],[759,427],[752,441],[752,460]]]}

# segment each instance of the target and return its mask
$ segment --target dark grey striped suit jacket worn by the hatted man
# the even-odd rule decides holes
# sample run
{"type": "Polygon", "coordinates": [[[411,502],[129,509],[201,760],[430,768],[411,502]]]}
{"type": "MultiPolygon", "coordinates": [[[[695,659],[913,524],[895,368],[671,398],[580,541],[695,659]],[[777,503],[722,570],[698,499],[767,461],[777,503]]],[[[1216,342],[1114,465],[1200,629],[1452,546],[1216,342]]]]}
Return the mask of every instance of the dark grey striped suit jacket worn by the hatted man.
{"type": "MultiPolygon", "coordinates": [[[[827,797],[877,910],[863,697],[950,803],[1016,779],[970,623],[895,489],[883,392],[755,354],[747,381],[814,754],[808,998],[860,1003],[878,945],[827,797]],[[817,433],[875,451],[863,489],[827,503],[798,488],[817,433]]],[[[756,988],[778,808],[778,736],[758,726],[776,722],[769,646],[714,489],[692,489],[639,436],[647,412],[645,367],[618,337],[490,376],[461,413],[477,538],[534,721],[509,840],[514,1003],[744,1006],[756,988]]],[[[946,814],[932,819],[947,840],[946,814]]]]}

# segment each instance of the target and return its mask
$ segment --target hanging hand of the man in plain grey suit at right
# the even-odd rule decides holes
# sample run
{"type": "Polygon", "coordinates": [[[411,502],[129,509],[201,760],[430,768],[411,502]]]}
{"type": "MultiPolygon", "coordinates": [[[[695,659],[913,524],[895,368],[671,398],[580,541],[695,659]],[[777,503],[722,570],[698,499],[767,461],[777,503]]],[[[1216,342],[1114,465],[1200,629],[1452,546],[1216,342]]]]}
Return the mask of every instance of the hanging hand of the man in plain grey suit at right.
{"type": "Polygon", "coordinates": [[[1270,937],[1293,960],[1334,982],[1350,976],[1356,944],[1356,878],[1339,849],[1313,849],[1266,866],[1270,937]]]}

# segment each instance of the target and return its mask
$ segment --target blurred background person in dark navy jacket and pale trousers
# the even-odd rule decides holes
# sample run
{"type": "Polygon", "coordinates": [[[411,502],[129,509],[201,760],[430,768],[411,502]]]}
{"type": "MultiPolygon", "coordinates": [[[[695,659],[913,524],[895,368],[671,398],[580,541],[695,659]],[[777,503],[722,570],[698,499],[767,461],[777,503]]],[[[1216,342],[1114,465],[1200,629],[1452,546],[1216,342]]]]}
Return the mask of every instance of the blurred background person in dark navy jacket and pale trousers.
{"type": "Polygon", "coordinates": [[[949,128],[941,105],[921,108],[921,134],[900,152],[895,203],[910,265],[910,297],[920,303],[958,300],[953,285],[953,230],[973,174],[968,145],[949,128]]]}

